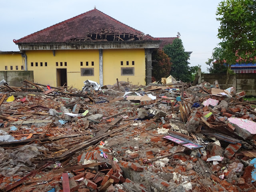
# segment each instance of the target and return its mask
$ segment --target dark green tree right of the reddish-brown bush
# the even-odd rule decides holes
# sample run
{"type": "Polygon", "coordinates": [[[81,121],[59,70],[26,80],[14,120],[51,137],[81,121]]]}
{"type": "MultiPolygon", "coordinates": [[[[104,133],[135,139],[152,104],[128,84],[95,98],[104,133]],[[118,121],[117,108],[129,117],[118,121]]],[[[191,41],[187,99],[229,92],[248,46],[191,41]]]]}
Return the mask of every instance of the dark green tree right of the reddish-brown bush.
{"type": "Polygon", "coordinates": [[[189,55],[185,52],[182,40],[175,38],[172,44],[168,44],[163,48],[172,62],[172,69],[170,75],[176,80],[182,80],[183,82],[192,82],[194,79],[193,73],[197,72],[199,66],[189,66],[189,55]]]}

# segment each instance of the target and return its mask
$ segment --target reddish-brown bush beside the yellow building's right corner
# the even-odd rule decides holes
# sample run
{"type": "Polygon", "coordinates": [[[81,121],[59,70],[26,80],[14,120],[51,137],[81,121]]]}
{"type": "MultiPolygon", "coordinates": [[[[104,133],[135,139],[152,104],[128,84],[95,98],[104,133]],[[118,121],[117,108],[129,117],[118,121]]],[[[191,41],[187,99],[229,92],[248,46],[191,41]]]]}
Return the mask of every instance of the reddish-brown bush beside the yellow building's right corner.
{"type": "Polygon", "coordinates": [[[152,53],[152,82],[166,78],[170,74],[172,63],[170,58],[162,50],[152,53]]]}

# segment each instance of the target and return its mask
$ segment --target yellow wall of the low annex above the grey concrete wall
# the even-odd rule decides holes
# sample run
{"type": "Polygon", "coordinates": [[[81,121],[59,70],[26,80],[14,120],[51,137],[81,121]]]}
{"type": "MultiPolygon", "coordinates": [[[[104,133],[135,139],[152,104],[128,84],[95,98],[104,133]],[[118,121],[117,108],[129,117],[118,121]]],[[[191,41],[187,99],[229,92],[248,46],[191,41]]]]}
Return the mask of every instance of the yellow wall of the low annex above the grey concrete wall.
{"type": "Polygon", "coordinates": [[[0,71],[23,71],[21,69],[21,66],[22,66],[21,54],[0,54],[0,71]],[[7,70],[5,70],[5,66],[7,66],[7,70]],[[12,70],[11,70],[11,66],[12,66],[12,70]],[[18,66],[18,70],[16,70],[16,66],[18,66]]]}

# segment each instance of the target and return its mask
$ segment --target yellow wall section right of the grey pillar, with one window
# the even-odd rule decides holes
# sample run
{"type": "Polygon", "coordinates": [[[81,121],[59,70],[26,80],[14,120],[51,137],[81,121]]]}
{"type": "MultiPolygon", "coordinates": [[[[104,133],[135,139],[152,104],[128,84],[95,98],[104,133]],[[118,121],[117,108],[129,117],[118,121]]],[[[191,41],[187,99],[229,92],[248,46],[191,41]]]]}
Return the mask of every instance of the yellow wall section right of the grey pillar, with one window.
{"type": "Polygon", "coordinates": [[[144,49],[108,49],[103,50],[103,84],[115,84],[116,78],[119,81],[126,81],[136,85],[145,85],[145,51],[144,49]],[[121,61],[123,65],[121,66],[121,61]],[[129,61],[129,65],[126,65],[129,61]],[[134,61],[134,65],[132,65],[134,61]],[[121,67],[134,67],[134,75],[121,75],[121,67]]]}

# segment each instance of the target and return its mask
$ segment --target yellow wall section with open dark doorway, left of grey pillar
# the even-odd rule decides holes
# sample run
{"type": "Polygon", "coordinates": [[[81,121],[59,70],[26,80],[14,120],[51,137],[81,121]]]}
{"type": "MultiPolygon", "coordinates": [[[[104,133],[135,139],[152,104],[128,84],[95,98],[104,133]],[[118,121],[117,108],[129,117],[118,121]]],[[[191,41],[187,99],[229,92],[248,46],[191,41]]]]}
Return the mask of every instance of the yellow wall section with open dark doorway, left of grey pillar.
{"type": "Polygon", "coordinates": [[[99,50],[56,50],[55,56],[52,50],[33,50],[26,51],[26,54],[28,70],[34,71],[34,82],[57,86],[56,68],[67,69],[68,86],[73,85],[75,88],[82,89],[85,80],[99,82],[99,50]],[[86,61],[88,61],[88,66],[86,66],[86,61]],[[92,66],[92,61],[94,66],[92,66]],[[31,66],[31,62],[34,66],[31,66]],[[40,66],[40,62],[43,66],[40,66]],[[64,62],[67,62],[67,66],[64,66],[64,62]],[[80,66],[80,62],[83,62],[83,66],[80,66]],[[81,68],[94,68],[94,76],[81,76],[81,68]]]}

